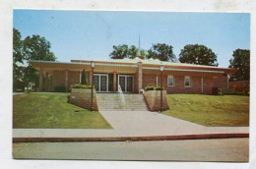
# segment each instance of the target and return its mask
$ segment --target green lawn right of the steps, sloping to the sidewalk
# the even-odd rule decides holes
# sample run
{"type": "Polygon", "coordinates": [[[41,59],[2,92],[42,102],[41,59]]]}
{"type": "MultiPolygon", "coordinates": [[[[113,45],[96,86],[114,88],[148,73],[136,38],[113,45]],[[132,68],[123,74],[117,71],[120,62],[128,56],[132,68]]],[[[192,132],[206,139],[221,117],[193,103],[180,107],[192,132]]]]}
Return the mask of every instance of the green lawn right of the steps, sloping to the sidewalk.
{"type": "Polygon", "coordinates": [[[168,94],[165,115],[204,126],[249,126],[249,96],[168,94]]]}

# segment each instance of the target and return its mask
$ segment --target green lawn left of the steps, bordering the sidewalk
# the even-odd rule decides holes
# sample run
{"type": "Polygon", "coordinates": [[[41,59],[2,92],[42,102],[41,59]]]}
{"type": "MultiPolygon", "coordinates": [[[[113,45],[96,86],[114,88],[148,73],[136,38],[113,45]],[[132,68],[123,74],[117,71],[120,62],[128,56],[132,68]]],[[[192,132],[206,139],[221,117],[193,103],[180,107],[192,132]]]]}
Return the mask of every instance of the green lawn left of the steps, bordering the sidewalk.
{"type": "Polygon", "coordinates": [[[13,97],[13,128],[109,129],[99,112],[67,103],[68,93],[25,93],[13,97]]]}

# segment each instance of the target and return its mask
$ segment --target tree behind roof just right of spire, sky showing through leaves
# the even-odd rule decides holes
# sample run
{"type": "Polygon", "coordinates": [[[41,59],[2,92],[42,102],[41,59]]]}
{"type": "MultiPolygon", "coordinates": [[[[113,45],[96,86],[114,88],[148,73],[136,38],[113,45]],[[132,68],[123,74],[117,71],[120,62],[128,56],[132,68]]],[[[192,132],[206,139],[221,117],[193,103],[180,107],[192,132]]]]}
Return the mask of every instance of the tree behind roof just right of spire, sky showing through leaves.
{"type": "Polygon", "coordinates": [[[152,48],[148,50],[148,59],[159,59],[160,61],[175,61],[176,57],[173,54],[172,46],[165,43],[153,44],[152,48]]]}

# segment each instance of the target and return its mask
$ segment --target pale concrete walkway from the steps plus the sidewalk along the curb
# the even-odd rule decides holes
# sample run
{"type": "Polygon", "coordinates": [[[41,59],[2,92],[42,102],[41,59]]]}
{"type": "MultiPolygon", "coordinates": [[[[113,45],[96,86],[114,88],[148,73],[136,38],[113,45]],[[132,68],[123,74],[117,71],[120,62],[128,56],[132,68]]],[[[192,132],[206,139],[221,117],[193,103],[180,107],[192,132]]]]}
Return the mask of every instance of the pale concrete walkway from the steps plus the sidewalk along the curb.
{"type": "Polygon", "coordinates": [[[249,127],[205,127],[150,111],[101,111],[100,113],[113,129],[14,129],[13,138],[106,138],[249,133],[249,127]]]}

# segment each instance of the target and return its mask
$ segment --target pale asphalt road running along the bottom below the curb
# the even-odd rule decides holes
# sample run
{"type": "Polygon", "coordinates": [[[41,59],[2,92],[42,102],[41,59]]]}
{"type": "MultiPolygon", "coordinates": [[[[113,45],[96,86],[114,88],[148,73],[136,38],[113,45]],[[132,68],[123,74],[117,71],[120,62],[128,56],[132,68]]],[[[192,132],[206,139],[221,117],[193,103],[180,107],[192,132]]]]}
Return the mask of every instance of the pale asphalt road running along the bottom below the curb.
{"type": "Polygon", "coordinates": [[[248,161],[249,139],[14,143],[13,157],[33,159],[248,161]]]}

